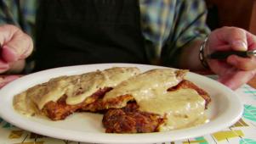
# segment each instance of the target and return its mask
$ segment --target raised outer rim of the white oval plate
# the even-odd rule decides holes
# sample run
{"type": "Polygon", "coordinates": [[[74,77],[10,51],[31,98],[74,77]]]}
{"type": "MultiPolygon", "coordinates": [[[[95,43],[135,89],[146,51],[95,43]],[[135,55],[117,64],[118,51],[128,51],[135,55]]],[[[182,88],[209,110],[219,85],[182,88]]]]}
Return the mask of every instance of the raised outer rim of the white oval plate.
{"type": "MultiPolygon", "coordinates": [[[[122,63],[115,63],[115,64],[84,64],[84,65],[76,65],[76,66],[67,66],[67,67],[60,67],[60,68],[54,68],[54,69],[46,69],[43,71],[39,71],[36,73],[32,73],[30,75],[25,75],[23,77],[21,77],[18,80],[14,80],[13,82],[9,83],[7,86],[4,86],[3,89],[0,90],[0,96],[2,96],[4,94],[4,92],[8,92],[10,90],[11,86],[15,86],[17,85],[20,81],[22,80],[26,80],[29,79],[30,77],[34,77],[35,75],[43,75],[43,74],[47,74],[47,73],[51,73],[51,72],[56,72],[59,71],[61,73],[61,70],[63,71],[64,69],[75,69],[74,71],[69,71],[69,74],[71,73],[76,73],[76,69],[82,68],[88,68],[88,67],[100,67],[101,69],[105,69],[105,68],[110,68],[113,66],[133,66],[133,67],[138,67],[139,69],[141,69],[141,67],[145,67],[145,68],[150,68],[150,69],[155,69],[155,68],[168,68],[168,67],[162,67],[162,66],[156,66],[156,65],[149,65],[149,64],[122,64],[122,63]]],[[[56,131],[56,129],[49,127],[47,125],[41,125],[41,124],[37,124],[37,122],[31,122],[31,124],[33,125],[37,125],[37,126],[41,126],[44,127],[46,130],[38,130],[38,129],[33,129],[31,127],[26,127],[26,120],[21,119],[21,120],[17,120],[17,118],[19,117],[23,117],[23,115],[18,114],[17,112],[15,112],[12,116],[10,116],[9,113],[5,113],[6,110],[10,110],[9,108],[3,108],[3,97],[0,97],[0,117],[2,119],[4,119],[5,121],[9,122],[12,125],[15,125],[23,130],[28,130],[31,132],[35,132],[37,134],[43,135],[43,136],[49,136],[49,137],[54,137],[54,138],[58,138],[58,139],[65,139],[65,140],[71,140],[71,141],[81,141],[81,142],[96,142],[96,143],[154,143],[154,142],[164,142],[164,141],[178,141],[178,140],[182,140],[185,138],[191,138],[191,137],[196,137],[196,136],[204,136],[204,135],[208,135],[209,133],[213,133],[216,132],[218,130],[222,130],[225,129],[226,127],[233,125],[236,123],[236,121],[238,119],[240,119],[242,117],[242,112],[243,112],[243,107],[242,107],[242,102],[240,101],[239,97],[237,96],[237,94],[230,90],[228,87],[220,84],[219,82],[217,82],[216,80],[211,80],[210,78],[203,76],[203,75],[198,75],[192,72],[189,72],[190,76],[196,76],[199,79],[202,80],[206,80],[206,82],[210,81],[211,84],[213,84],[214,86],[217,87],[221,87],[222,89],[225,90],[226,93],[229,93],[228,95],[228,100],[232,103],[236,103],[236,107],[234,107],[234,104],[230,105],[231,108],[235,108],[234,109],[227,109],[228,110],[228,114],[230,114],[230,111],[233,113],[231,115],[225,115],[225,117],[229,117],[230,121],[222,121],[223,119],[215,119],[215,121],[211,121],[208,124],[205,125],[199,125],[196,127],[192,127],[192,128],[187,128],[187,129],[182,129],[182,130],[172,130],[172,131],[168,131],[168,132],[156,132],[156,133],[145,133],[145,134],[106,134],[106,133],[91,133],[91,132],[82,132],[84,135],[86,136],[81,136],[81,132],[77,132],[74,130],[64,130],[63,132],[67,132],[69,133],[69,135],[65,135],[65,137],[63,135],[59,135],[59,132],[52,132],[52,131],[56,131]],[[232,95],[232,97],[230,97],[230,94],[232,95]],[[235,112],[235,113],[234,113],[235,112]],[[219,122],[221,123],[218,123],[219,122]],[[219,124],[219,127],[212,127],[209,128],[208,125],[209,124],[213,124],[213,122],[219,124]],[[36,124],[34,124],[36,123],[36,124]],[[187,133],[190,134],[190,136],[182,136],[182,132],[186,131],[187,133]],[[194,131],[196,130],[197,133],[195,133],[194,131]],[[207,133],[205,131],[208,131],[207,133]],[[96,137],[101,137],[101,138],[96,138],[96,137]],[[132,138],[131,138],[132,136],[132,138]],[[91,139],[91,137],[95,137],[93,140],[91,139]],[[160,138],[159,138],[160,137],[160,138]],[[125,139],[125,141],[123,141],[123,139],[125,139]],[[138,141],[139,140],[139,141],[138,141]]],[[[14,96],[13,96],[14,97],[14,96]]],[[[12,97],[12,98],[13,98],[12,97]]],[[[5,98],[6,100],[7,98],[5,98]]],[[[11,106],[12,107],[12,106],[11,106]]],[[[14,108],[12,107],[12,112],[14,112],[14,108]]],[[[216,125],[216,124],[215,124],[216,125]]],[[[60,128],[57,128],[57,131],[60,130],[60,128]]]]}

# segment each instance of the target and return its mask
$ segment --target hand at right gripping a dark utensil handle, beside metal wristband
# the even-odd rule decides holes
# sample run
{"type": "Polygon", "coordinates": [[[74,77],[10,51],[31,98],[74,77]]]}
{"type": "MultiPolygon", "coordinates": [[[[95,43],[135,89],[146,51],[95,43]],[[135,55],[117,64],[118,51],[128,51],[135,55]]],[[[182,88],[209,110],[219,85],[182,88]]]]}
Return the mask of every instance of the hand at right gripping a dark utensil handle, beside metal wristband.
{"type": "MultiPolygon", "coordinates": [[[[206,53],[215,51],[247,51],[256,49],[256,36],[236,27],[223,27],[208,36],[206,53]]],[[[212,71],[219,75],[219,82],[231,89],[247,83],[256,73],[256,58],[230,55],[225,60],[208,59],[212,71]]]]}

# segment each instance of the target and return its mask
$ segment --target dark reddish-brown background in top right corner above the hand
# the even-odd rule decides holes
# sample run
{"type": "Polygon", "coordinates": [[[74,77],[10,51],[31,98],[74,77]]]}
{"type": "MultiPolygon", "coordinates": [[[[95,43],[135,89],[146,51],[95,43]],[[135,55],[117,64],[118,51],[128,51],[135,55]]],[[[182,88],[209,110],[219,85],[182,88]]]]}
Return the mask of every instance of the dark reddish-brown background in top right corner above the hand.
{"type": "Polygon", "coordinates": [[[256,0],[206,0],[208,26],[237,26],[256,35],[256,0]]]}

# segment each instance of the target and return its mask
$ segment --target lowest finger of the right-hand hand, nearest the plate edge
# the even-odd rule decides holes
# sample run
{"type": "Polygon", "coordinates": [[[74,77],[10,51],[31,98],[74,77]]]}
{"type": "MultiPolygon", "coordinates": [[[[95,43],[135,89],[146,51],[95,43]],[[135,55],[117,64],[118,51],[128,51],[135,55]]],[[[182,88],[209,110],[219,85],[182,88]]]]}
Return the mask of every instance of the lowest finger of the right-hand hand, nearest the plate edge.
{"type": "Polygon", "coordinates": [[[225,86],[230,87],[230,89],[232,90],[236,90],[237,88],[251,80],[255,73],[256,70],[237,71],[235,73],[219,76],[219,82],[223,83],[225,86]]]}

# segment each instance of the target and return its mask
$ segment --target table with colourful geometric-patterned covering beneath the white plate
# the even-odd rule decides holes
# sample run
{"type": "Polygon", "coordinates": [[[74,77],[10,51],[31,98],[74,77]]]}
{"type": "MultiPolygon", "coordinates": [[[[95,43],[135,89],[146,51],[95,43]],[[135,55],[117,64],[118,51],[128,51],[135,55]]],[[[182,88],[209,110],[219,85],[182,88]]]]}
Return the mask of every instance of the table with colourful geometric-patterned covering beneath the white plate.
{"type": "MultiPolygon", "coordinates": [[[[256,77],[236,93],[244,104],[242,119],[225,130],[211,135],[200,136],[182,141],[170,141],[168,144],[256,144],[256,77]]],[[[20,130],[0,118],[0,144],[85,144],[75,141],[58,140],[40,136],[26,130],[20,130]]]]}

